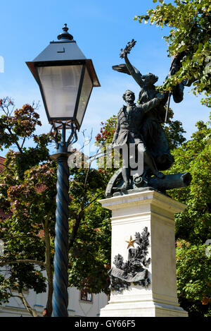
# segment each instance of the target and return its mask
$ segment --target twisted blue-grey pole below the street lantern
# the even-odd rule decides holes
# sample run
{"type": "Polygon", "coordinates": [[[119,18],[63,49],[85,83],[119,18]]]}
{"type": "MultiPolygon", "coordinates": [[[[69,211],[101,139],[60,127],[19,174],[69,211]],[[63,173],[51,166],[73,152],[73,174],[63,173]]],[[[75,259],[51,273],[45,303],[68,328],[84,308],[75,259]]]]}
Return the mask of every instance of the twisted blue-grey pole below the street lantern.
{"type": "Polygon", "coordinates": [[[53,317],[68,317],[68,156],[58,157],[55,255],[53,260],[53,317]]]}

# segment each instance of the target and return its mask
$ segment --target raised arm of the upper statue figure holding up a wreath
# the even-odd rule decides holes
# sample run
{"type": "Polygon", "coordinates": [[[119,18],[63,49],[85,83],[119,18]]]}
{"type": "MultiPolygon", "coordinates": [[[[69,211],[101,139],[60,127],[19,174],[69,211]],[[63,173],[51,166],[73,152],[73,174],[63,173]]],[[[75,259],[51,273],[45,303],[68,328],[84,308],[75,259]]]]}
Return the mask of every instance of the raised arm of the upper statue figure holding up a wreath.
{"type": "Polygon", "coordinates": [[[131,75],[134,78],[134,80],[136,80],[136,83],[138,83],[139,86],[141,86],[141,88],[143,88],[143,86],[144,86],[143,76],[141,75],[141,73],[138,69],[136,69],[134,66],[132,66],[132,64],[130,63],[130,61],[127,57],[127,54],[130,53],[130,51],[135,46],[135,44],[136,44],[136,41],[134,39],[132,39],[131,42],[127,43],[127,46],[124,47],[124,49],[121,49],[120,57],[122,59],[124,59],[126,66],[125,66],[125,64],[113,66],[113,70],[120,71],[120,72],[131,75]]]}

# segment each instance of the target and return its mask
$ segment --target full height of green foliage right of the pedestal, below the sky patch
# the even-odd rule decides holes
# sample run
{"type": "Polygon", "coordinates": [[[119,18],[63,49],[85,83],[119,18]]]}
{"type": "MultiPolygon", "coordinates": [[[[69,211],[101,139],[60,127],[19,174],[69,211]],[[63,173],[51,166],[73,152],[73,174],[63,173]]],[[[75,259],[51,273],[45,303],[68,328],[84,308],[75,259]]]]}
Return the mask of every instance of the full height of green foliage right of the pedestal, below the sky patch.
{"type": "Polygon", "coordinates": [[[175,162],[167,171],[188,171],[193,177],[190,186],[168,192],[187,205],[175,221],[178,296],[190,316],[211,316],[211,264],[205,244],[211,238],[210,124],[196,124],[191,140],[173,151],[175,162]]]}

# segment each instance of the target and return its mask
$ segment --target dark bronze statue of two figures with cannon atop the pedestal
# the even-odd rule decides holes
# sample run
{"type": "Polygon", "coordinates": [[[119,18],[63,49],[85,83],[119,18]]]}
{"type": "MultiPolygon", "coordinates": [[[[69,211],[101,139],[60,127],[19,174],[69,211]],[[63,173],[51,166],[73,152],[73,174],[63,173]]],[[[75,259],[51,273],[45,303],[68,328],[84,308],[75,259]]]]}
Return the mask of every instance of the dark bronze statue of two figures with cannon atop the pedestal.
{"type": "MultiPolygon", "coordinates": [[[[191,181],[191,175],[188,173],[164,176],[160,172],[169,169],[174,162],[161,125],[165,121],[165,104],[167,100],[170,100],[170,95],[168,92],[160,93],[156,90],[157,76],[153,73],[143,76],[129,62],[127,54],[134,44],[136,42],[132,40],[124,50],[121,49],[120,57],[124,58],[125,64],[113,66],[113,69],[131,75],[139,84],[141,88],[139,104],[134,104],[134,92],[129,90],[124,92],[123,99],[127,105],[123,106],[117,114],[113,147],[124,148],[124,145],[129,147],[130,144],[134,144],[136,154],[132,155],[129,148],[128,160],[122,156],[122,169],[118,169],[110,179],[106,188],[106,197],[140,191],[141,188],[146,187],[166,193],[167,189],[186,186],[191,181]],[[132,176],[129,160],[132,157],[137,158],[137,154],[139,155],[141,151],[143,152],[143,172],[138,176],[132,176]]],[[[175,61],[172,63],[172,68],[175,66],[175,61]]],[[[175,68],[169,75],[174,74],[174,71],[175,68]]],[[[181,86],[174,89],[173,97],[174,101],[181,102],[183,98],[181,86]]]]}

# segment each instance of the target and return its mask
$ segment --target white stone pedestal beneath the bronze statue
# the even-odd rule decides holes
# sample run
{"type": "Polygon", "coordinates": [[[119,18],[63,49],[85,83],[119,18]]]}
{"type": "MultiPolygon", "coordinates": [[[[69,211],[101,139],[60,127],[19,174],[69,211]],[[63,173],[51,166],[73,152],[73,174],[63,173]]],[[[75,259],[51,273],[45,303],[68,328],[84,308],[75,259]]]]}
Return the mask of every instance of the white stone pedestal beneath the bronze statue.
{"type": "MultiPolygon", "coordinates": [[[[108,305],[101,309],[102,317],[187,317],[178,304],[174,214],[186,205],[156,191],[141,191],[115,196],[99,201],[112,210],[112,256],[120,254],[128,260],[130,236],[145,227],[150,233],[148,255],[151,263],[146,267],[150,284],[148,287],[132,285],[121,292],[112,291],[108,305]]],[[[136,247],[136,243],[134,243],[136,247]]]]}

